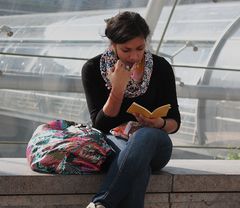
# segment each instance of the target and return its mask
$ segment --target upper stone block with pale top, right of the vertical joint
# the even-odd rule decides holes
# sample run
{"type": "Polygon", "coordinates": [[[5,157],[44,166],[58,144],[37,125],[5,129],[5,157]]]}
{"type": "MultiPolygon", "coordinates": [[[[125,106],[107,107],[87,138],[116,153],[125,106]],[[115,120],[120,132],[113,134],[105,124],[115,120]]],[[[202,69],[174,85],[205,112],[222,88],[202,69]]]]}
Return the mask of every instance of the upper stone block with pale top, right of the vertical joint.
{"type": "Polygon", "coordinates": [[[240,191],[240,160],[172,160],[172,192],[240,191]]]}

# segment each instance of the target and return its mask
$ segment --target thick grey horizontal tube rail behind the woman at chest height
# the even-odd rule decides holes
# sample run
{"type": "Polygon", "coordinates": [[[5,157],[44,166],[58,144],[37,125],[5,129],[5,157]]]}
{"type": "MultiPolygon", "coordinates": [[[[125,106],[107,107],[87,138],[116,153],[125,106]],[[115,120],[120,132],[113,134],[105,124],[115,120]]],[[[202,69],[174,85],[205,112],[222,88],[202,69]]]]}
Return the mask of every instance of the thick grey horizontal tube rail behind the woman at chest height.
{"type": "MultiPolygon", "coordinates": [[[[40,75],[31,73],[17,74],[5,72],[0,74],[0,89],[84,92],[80,76],[40,75]]],[[[177,84],[177,94],[180,98],[239,101],[239,90],[239,88],[177,84]]]]}

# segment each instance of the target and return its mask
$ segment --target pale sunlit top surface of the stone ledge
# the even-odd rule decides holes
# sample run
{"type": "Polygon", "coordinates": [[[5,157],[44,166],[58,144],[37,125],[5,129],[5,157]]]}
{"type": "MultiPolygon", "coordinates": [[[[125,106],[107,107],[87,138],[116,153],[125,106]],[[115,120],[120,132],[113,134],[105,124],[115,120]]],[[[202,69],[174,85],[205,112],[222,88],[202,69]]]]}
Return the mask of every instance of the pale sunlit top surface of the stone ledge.
{"type": "MultiPolygon", "coordinates": [[[[170,160],[160,173],[171,175],[240,175],[240,160],[170,160]]],[[[155,173],[159,174],[159,173],[155,173]]],[[[0,176],[46,174],[32,171],[26,158],[0,158],[0,176]]]]}

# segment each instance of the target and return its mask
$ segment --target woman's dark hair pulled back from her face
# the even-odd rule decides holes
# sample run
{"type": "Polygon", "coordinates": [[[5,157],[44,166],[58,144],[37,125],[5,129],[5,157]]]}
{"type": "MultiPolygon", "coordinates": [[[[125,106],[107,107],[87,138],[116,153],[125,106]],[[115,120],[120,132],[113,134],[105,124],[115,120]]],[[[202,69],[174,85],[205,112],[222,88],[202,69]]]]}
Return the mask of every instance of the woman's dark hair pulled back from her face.
{"type": "Polygon", "coordinates": [[[121,44],[136,37],[143,37],[146,40],[150,34],[148,24],[136,12],[121,12],[105,21],[107,23],[105,35],[112,43],[121,44]]]}

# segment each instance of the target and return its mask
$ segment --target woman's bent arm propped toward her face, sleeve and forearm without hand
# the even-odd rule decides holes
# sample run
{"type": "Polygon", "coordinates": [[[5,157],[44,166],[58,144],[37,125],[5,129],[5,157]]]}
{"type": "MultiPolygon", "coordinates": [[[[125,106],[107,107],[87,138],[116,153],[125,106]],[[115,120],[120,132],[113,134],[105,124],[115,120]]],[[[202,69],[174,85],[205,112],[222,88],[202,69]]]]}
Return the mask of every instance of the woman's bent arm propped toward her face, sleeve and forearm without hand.
{"type": "Polygon", "coordinates": [[[99,60],[100,56],[97,56],[84,64],[81,71],[82,83],[93,127],[103,132],[109,132],[111,128],[123,122],[121,116],[114,116],[120,109],[121,97],[116,95],[116,101],[114,101],[115,98],[112,96],[115,95],[115,91],[112,91],[113,95],[105,86],[106,83],[99,69],[99,60]],[[115,108],[115,112],[109,112],[113,108],[115,108]]]}

